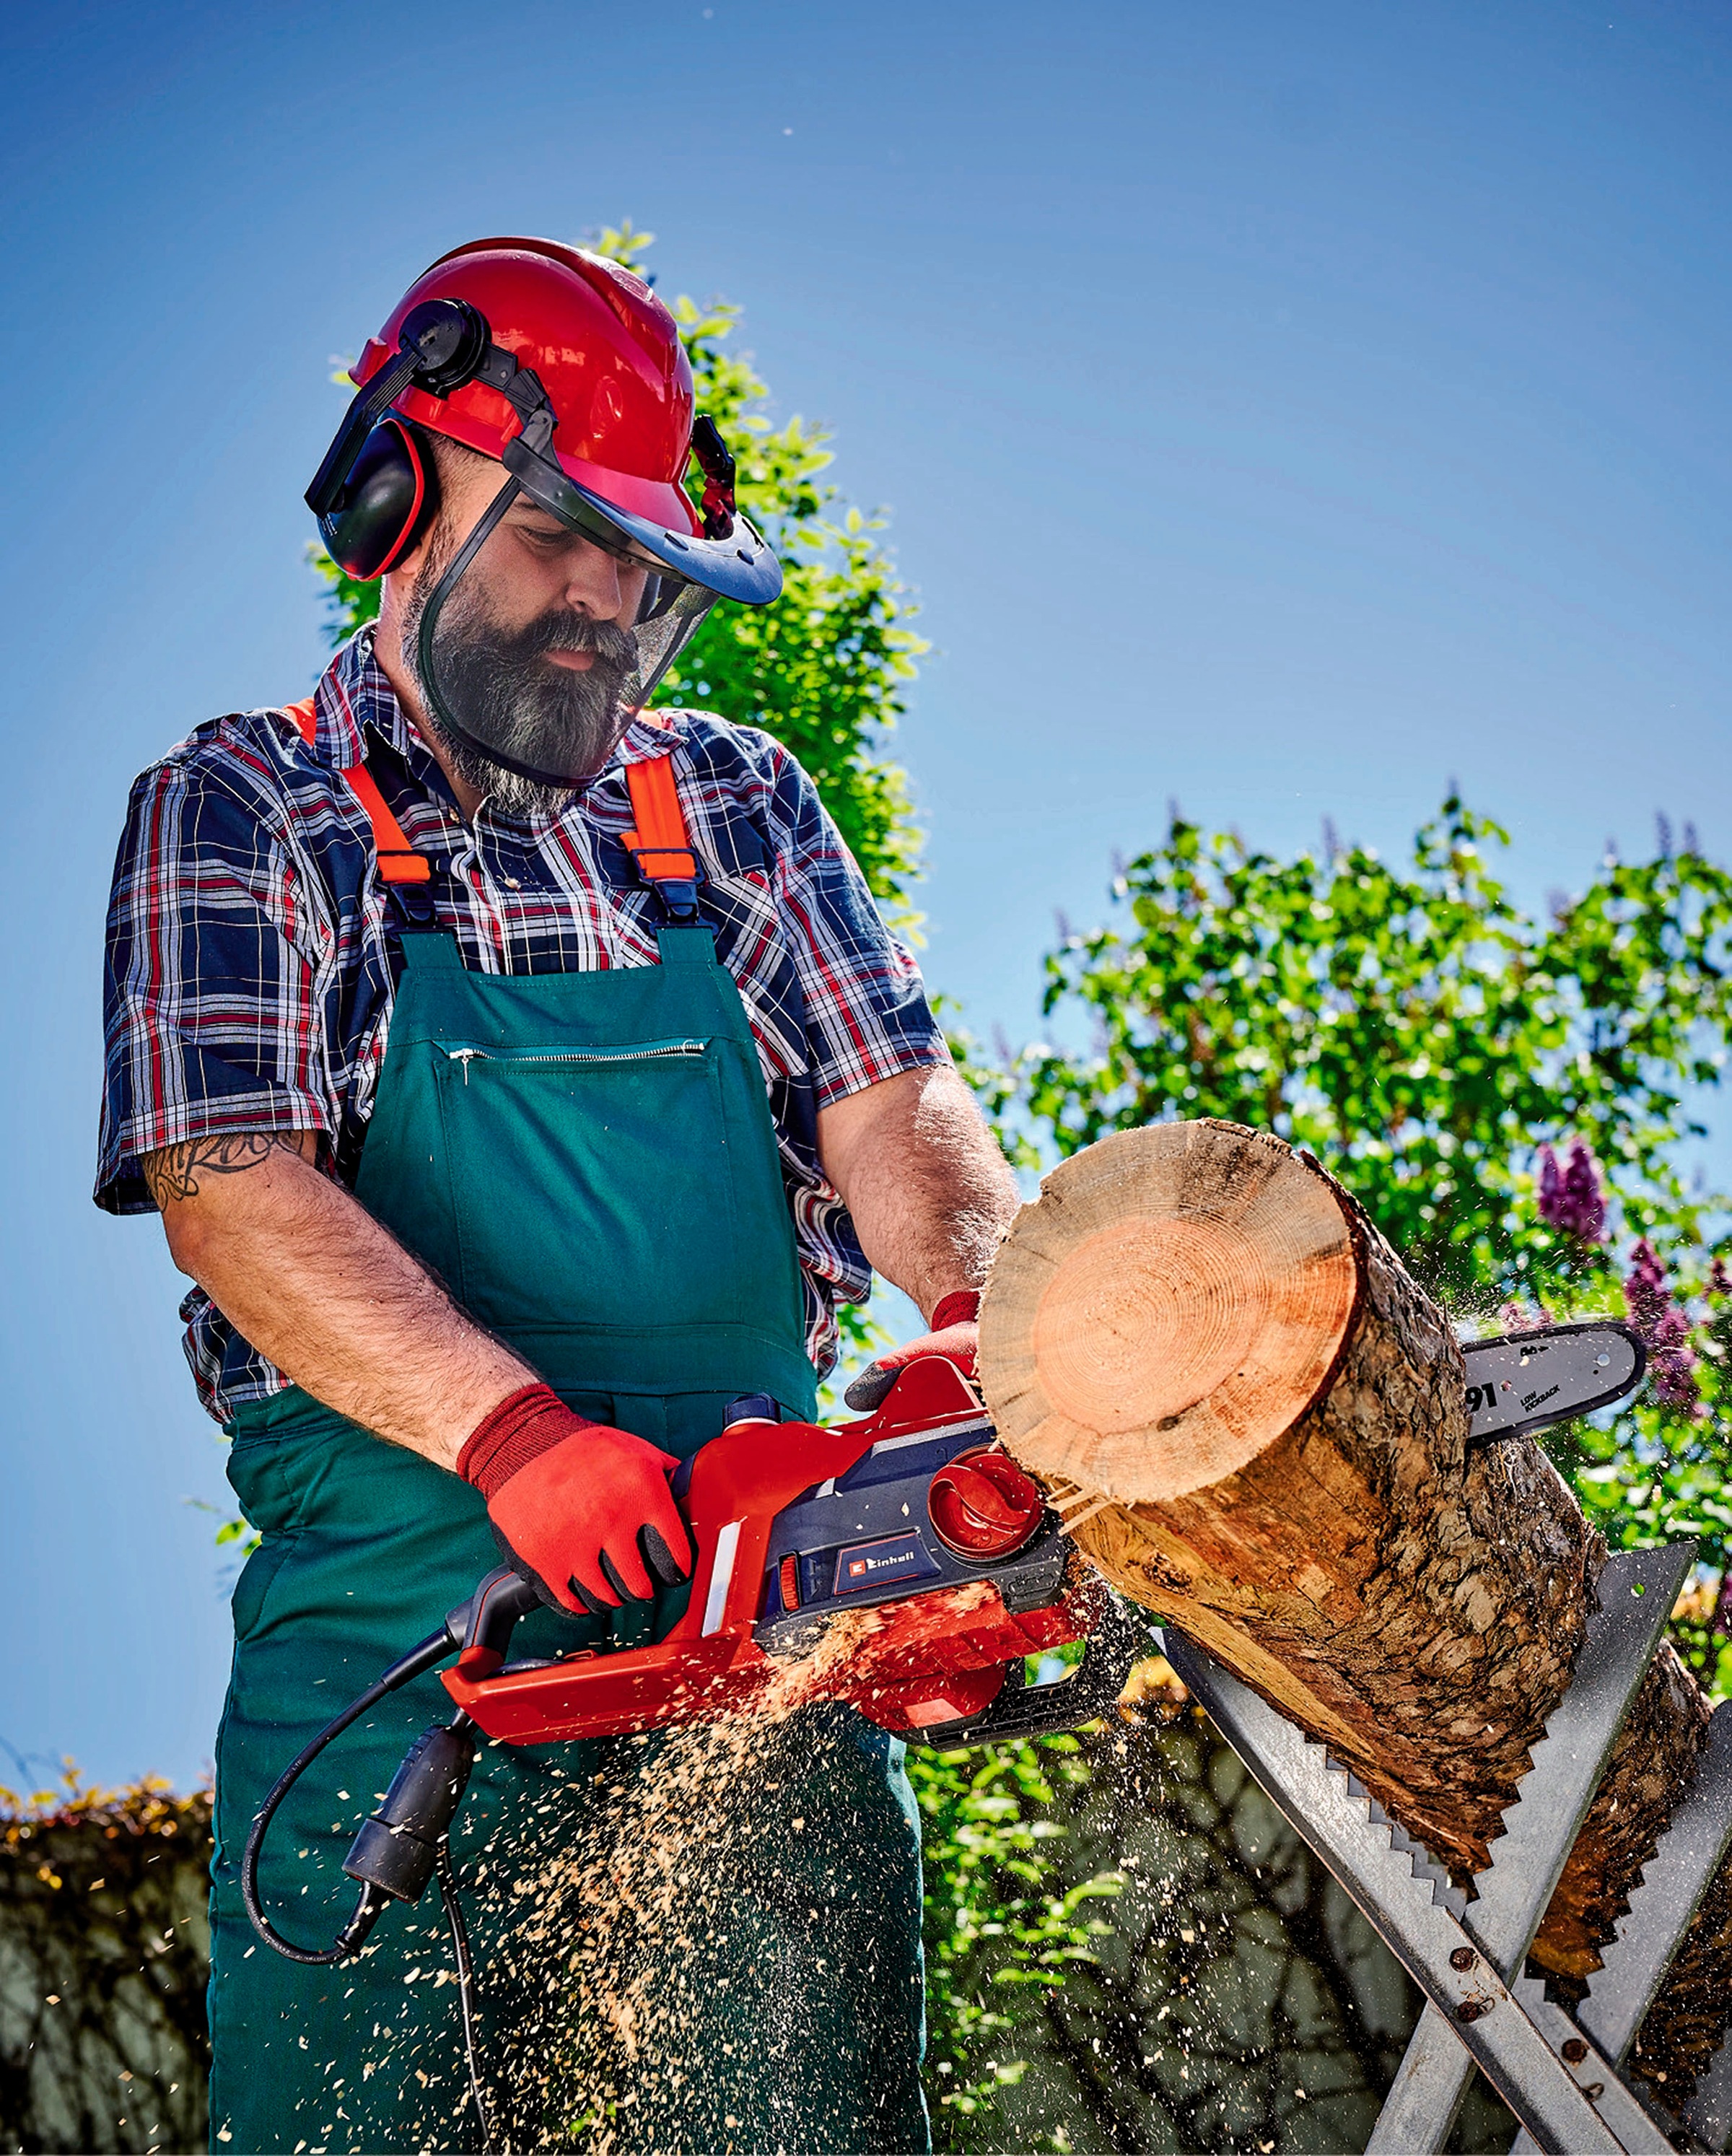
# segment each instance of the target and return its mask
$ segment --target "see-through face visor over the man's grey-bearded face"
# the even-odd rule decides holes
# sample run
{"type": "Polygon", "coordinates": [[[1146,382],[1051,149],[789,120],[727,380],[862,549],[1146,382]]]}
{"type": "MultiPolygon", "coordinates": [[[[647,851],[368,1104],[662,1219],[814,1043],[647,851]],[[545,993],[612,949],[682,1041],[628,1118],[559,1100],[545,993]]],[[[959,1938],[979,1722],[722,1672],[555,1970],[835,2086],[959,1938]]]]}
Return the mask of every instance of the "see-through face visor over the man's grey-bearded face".
{"type": "Polygon", "coordinates": [[[544,787],[582,787],[602,770],[716,604],[593,500],[582,509],[582,526],[544,513],[509,476],[427,593],[414,636],[416,681],[440,733],[544,787]],[[509,520],[520,502],[537,513],[509,520]],[[606,556],[591,573],[608,610],[567,599],[578,548],[606,556]]]}

